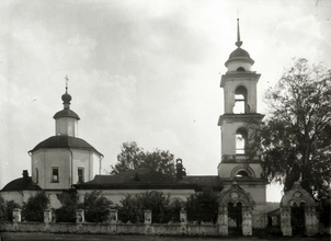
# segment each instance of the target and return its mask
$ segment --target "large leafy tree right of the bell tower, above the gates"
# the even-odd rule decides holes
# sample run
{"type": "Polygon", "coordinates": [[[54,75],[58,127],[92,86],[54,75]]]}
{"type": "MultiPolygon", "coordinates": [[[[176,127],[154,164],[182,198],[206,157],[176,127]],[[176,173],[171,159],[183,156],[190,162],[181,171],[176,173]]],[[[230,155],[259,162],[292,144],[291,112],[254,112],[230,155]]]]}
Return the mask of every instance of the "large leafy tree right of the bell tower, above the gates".
{"type": "Polygon", "coordinates": [[[292,188],[295,181],[317,200],[330,199],[331,70],[297,59],[267,91],[269,115],[251,131],[264,175],[292,188]]]}

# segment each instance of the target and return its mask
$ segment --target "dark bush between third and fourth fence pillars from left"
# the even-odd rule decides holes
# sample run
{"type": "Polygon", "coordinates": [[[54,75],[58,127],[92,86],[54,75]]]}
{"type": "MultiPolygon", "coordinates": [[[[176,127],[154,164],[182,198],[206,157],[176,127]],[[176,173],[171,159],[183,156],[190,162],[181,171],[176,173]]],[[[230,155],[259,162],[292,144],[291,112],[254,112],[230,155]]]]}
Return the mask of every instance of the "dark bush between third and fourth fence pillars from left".
{"type": "Polygon", "coordinates": [[[111,205],[101,191],[85,193],[84,202],[78,205],[78,208],[84,210],[84,217],[90,222],[105,222],[109,219],[111,205]]]}

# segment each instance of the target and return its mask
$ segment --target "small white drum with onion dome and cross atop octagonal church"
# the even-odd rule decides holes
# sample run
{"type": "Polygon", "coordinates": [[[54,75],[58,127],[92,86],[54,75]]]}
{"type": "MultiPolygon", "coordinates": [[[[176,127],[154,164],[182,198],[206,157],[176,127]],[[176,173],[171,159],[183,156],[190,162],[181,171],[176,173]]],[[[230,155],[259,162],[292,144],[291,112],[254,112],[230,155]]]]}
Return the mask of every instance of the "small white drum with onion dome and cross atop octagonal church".
{"type": "Polygon", "coordinates": [[[70,110],[71,95],[68,93],[68,77],[66,77],[66,93],[62,94],[64,110],[54,115],[55,135],[77,137],[79,116],[70,110]]]}

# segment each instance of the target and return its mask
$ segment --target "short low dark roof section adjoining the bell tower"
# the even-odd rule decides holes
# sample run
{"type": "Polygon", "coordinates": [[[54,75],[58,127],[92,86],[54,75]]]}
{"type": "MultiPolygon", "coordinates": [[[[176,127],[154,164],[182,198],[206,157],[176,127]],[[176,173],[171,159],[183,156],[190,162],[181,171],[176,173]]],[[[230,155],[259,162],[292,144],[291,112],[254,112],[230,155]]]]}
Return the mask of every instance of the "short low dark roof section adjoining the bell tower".
{"type": "Polygon", "coordinates": [[[187,175],[183,177],[183,181],[197,185],[198,190],[213,188],[214,191],[221,191],[224,188],[218,175],[187,175]]]}

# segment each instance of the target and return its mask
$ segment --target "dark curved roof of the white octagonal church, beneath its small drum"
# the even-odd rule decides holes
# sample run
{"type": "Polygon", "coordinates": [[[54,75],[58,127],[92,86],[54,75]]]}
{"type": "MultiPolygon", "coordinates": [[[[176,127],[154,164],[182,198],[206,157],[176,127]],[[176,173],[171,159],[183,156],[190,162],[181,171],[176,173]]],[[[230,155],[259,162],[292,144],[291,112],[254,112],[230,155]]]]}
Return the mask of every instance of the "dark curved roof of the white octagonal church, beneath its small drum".
{"type": "Polygon", "coordinates": [[[38,149],[48,149],[48,148],[70,148],[70,149],[80,149],[80,150],[91,150],[100,153],[94,147],[88,144],[85,140],[70,137],[70,136],[53,136],[46,140],[39,142],[35,148],[30,150],[28,152],[36,151],[38,149]]]}

